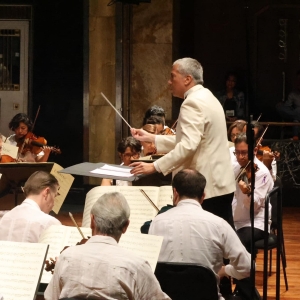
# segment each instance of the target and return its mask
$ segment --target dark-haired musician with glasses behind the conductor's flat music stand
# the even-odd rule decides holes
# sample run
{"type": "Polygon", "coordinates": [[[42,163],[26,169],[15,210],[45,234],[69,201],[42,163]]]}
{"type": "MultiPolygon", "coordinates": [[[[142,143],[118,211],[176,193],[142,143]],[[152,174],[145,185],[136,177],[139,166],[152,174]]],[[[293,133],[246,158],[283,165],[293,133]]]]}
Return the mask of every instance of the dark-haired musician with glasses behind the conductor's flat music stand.
{"type": "MultiPolygon", "coordinates": [[[[141,142],[129,136],[122,139],[118,144],[118,154],[122,161],[121,165],[129,166],[132,159],[138,159],[142,150],[141,142]]],[[[113,185],[112,179],[103,178],[101,186],[113,185]]],[[[131,181],[116,180],[116,185],[129,186],[132,185],[131,181]]]]}

